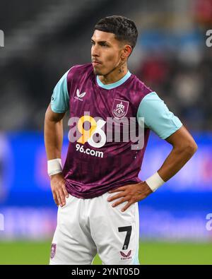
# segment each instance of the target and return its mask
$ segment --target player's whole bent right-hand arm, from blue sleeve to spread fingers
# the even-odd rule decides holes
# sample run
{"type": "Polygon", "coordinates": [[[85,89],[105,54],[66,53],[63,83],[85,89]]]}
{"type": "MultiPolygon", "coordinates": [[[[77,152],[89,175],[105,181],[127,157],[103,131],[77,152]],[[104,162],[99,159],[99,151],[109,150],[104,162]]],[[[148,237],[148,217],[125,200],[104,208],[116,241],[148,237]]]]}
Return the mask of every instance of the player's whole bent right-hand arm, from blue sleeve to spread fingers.
{"type": "Polygon", "coordinates": [[[119,192],[119,194],[108,198],[108,201],[119,198],[112,206],[128,201],[122,209],[123,211],[129,208],[132,203],[146,198],[158,186],[179,172],[197,149],[194,138],[155,92],[143,97],[137,112],[137,119],[139,124],[142,124],[144,119],[144,125],[154,131],[160,138],[172,144],[173,148],[158,172],[146,179],[146,182],[130,184],[109,191],[109,193],[119,192]]]}

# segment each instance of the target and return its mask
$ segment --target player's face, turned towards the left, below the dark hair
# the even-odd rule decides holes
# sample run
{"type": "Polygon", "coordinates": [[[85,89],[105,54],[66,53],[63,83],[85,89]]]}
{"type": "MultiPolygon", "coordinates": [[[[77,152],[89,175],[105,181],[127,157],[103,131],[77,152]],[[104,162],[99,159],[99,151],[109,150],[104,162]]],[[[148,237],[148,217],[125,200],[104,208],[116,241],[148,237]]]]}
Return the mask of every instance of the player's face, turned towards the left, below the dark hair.
{"type": "Polygon", "coordinates": [[[95,30],[91,44],[91,59],[96,75],[105,76],[119,65],[123,45],[113,33],[95,30]]]}

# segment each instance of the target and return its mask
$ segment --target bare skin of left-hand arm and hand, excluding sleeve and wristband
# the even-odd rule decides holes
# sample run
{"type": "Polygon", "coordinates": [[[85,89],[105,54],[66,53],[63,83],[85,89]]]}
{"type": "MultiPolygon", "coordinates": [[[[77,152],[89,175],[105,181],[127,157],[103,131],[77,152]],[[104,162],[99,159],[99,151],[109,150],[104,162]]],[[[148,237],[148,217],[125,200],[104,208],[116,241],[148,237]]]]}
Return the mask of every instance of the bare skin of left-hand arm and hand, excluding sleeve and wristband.
{"type": "MultiPolygon", "coordinates": [[[[62,119],[65,113],[55,113],[51,106],[47,108],[45,114],[45,148],[47,160],[61,158],[61,147],[63,142],[62,119]]],[[[52,194],[57,206],[66,204],[66,197],[69,197],[65,187],[65,179],[60,173],[50,175],[52,194]]]]}

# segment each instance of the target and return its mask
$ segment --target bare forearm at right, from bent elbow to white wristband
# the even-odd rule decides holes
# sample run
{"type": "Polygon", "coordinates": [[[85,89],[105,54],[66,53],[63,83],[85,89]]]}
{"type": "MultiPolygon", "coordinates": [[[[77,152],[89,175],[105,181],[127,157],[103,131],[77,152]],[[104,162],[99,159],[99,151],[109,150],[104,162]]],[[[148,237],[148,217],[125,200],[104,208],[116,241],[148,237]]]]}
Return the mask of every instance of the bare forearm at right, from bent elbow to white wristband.
{"type": "Polygon", "coordinates": [[[158,174],[167,181],[173,177],[188,162],[196,152],[196,146],[185,146],[184,148],[172,148],[163,165],[158,170],[158,174]]]}

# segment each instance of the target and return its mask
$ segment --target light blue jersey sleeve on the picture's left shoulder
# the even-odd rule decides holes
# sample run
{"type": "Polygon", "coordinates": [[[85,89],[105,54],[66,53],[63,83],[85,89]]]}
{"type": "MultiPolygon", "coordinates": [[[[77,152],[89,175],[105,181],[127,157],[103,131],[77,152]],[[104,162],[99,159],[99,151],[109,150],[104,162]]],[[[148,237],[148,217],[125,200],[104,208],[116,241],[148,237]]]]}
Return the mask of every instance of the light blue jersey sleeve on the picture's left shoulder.
{"type": "Polygon", "coordinates": [[[69,93],[67,89],[68,73],[69,71],[61,77],[54,88],[51,98],[51,109],[53,112],[63,113],[69,110],[69,93]]]}

